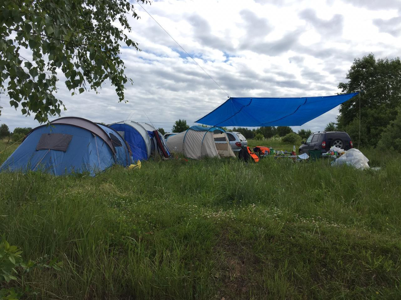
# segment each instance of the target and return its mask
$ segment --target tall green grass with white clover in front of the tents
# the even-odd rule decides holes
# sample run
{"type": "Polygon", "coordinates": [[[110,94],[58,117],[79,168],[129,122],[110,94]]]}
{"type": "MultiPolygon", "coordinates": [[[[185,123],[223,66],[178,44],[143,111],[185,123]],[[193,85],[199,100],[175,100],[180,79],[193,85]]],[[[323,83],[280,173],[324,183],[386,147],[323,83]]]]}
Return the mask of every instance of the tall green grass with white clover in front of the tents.
{"type": "Polygon", "coordinates": [[[64,262],[24,279],[39,299],[400,299],[401,155],[362,151],[382,170],[265,158],[0,173],[0,233],[64,262]]]}

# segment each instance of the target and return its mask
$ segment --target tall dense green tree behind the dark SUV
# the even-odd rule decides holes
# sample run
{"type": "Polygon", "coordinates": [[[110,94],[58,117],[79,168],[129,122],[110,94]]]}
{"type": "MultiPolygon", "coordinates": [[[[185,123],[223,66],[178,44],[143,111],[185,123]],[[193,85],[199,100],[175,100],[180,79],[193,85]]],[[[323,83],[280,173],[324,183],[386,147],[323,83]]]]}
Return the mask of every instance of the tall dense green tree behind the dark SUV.
{"type": "Polygon", "coordinates": [[[360,144],[375,146],[381,133],[395,120],[395,107],[401,104],[401,61],[375,59],[373,54],[354,60],[346,74],[348,82],[340,82],[338,88],[345,93],[363,90],[340,106],[337,128],[347,132],[352,141],[359,137],[360,144]],[[357,130],[356,130],[357,129],[357,130]]]}

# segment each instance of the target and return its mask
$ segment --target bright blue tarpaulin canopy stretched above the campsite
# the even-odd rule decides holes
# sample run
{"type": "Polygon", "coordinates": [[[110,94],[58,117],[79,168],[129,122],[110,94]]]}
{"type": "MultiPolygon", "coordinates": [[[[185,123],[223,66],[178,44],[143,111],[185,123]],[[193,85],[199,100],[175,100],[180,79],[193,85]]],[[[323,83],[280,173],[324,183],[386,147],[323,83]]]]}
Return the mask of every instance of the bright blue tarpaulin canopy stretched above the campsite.
{"type": "Polygon", "coordinates": [[[196,123],[210,126],[300,126],[356,96],[229,98],[196,123]]]}

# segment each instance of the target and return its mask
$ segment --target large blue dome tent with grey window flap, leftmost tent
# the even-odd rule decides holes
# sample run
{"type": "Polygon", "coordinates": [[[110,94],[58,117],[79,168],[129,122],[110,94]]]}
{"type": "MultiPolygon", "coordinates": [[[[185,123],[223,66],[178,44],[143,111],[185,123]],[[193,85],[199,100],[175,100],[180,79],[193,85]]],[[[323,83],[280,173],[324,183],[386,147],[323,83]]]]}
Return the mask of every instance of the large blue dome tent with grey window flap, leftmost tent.
{"type": "Polygon", "coordinates": [[[31,130],[0,171],[42,170],[56,176],[97,172],[132,163],[129,147],[112,128],[75,117],[31,130]]]}

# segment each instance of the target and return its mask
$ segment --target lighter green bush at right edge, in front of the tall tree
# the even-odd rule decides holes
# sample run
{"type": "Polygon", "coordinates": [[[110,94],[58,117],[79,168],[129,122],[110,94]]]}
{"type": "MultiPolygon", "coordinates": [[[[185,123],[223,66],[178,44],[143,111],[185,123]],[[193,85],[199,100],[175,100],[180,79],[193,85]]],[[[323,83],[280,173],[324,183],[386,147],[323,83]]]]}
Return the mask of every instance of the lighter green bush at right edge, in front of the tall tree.
{"type": "Polygon", "coordinates": [[[397,108],[397,116],[381,134],[377,144],[379,150],[391,150],[401,153],[401,106],[397,108]]]}

